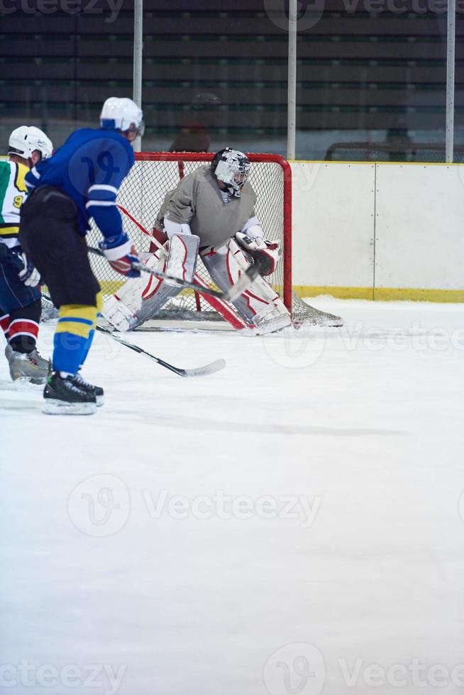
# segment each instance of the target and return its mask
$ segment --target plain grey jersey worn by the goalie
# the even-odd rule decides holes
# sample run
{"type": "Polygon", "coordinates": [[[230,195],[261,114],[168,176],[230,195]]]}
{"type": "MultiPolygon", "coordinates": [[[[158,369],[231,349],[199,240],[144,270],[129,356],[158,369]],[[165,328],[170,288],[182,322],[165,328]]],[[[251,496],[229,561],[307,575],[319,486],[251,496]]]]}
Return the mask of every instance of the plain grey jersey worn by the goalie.
{"type": "Polygon", "coordinates": [[[156,219],[163,228],[164,219],[190,225],[192,234],[200,238],[200,247],[221,246],[239,232],[255,216],[256,194],[250,184],[243,187],[240,198],[225,202],[211,166],[199,167],[167,191],[156,219]]]}

